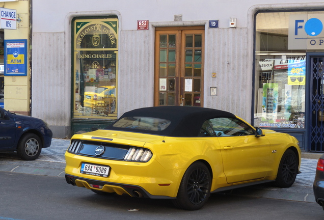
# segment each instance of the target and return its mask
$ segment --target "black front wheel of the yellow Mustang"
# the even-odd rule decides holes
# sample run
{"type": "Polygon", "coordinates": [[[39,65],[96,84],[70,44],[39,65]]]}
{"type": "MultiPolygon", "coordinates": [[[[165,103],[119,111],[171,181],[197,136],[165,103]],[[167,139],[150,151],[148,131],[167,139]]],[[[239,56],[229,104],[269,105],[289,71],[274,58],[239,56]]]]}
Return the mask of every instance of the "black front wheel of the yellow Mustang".
{"type": "Polygon", "coordinates": [[[290,187],[294,183],[297,174],[298,158],[291,149],[288,149],[281,158],[274,185],[281,188],[290,187]]]}

